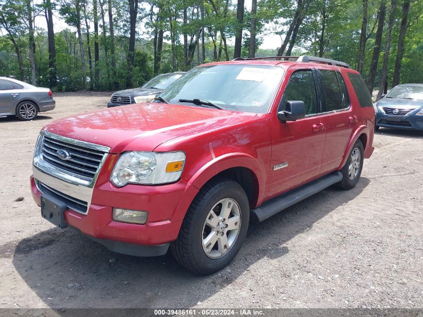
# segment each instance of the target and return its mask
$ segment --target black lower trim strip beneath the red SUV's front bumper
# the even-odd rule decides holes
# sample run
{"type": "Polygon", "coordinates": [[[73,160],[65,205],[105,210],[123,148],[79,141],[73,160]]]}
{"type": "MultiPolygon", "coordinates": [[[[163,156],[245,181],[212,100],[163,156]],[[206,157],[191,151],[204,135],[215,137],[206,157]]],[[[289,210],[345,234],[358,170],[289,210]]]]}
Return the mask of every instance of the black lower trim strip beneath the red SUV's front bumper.
{"type": "MultiPolygon", "coordinates": [[[[81,232],[76,227],[69,226],[70,228],[81,232]]],[[[81,232],[82,233],[82,232],[81,232]]],[[[84,233],[82,233],[84,234],[84,233]]],[[[160,256],[166,254],[170,243],[159,244],[159,245],[142,245],[142,244],[135,244],[135,243],[127,243],[109,239],[99,239],[89,235],[84,234],[86,237],[90,238],[93,241],[96,241],[105,247],[107,247],[110,251],[134,255],[134,256],[160,256]]]]}

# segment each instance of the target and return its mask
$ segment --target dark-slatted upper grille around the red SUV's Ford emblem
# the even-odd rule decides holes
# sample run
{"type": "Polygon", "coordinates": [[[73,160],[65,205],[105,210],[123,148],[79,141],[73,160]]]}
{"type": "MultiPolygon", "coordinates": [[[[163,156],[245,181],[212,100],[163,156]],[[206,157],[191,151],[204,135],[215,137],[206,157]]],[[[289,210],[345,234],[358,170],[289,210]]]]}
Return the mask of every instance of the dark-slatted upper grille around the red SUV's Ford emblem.
{"type": "Polygon", "coordinates": [[[44,136],[41,157],[47,163],[91,182],[104,154],[105,152],[99,150],[87,149],[44,136]],[[59,158],[60,150],[68,152],[70,157],[67,160],[59,158]]]}

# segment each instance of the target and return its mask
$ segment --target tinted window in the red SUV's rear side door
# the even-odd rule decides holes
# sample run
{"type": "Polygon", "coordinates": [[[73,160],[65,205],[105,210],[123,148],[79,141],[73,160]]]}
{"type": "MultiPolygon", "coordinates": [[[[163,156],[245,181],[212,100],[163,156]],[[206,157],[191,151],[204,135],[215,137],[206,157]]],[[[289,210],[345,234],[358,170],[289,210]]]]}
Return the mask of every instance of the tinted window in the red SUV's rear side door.
{"type": "Polygon", "coordinates": [[[323,93],[326,101],[325,111],[343,109],[342,95],[339,89],[338,79],[334,71],[318,70],[323,85],[323,93]]]}

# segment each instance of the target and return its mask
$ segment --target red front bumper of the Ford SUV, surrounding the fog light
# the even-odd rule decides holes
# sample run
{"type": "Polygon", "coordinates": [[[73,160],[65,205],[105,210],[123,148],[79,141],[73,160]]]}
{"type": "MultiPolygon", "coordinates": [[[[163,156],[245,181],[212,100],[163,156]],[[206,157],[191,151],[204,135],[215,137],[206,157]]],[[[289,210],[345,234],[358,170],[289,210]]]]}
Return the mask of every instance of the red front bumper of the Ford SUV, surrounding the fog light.
{"type": "MultiPolygon", "coordinates": [[[[43,181],[49,182],[49,178],[43,181]]],[[[68,183],[59,179],[47,185],[58,188],[57,182],[64,183],[61,186],[66,190],[68,183]]],[[[40,206],[43,193],[37,187],[34,176],[31,176],[31,189],[35,202],[40,206]]],[[[106,175],[99,175],[88,212],[82,214],[67,209],[64,217],[71,228],[112,251],[137,256],[162,255],[169,243],[177,238],[183,216],[197,192],[198,189],[183,181],[161,186],[127,185],[117,188],[106,175]],[[147,210],[147,223],[114,221],[113,207],[147,210]]]]}

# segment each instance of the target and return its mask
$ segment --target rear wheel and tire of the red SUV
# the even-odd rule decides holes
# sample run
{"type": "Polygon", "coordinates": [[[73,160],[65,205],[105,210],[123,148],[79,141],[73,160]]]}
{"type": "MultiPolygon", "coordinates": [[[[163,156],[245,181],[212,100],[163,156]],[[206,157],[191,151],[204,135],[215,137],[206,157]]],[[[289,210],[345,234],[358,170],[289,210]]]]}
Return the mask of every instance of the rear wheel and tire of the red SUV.
{"type": "Polygon", "coordinates": [[[348,160],[342,167],[342,180],[337,182],[336,185],[341,189],[353,188],[360,179],[361,170],[363,169],[364,148],[363,143],[358,139],[351,152],[348,155],[348,160]]]}

